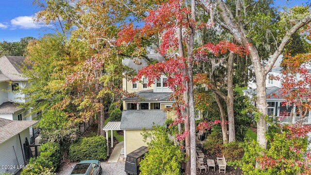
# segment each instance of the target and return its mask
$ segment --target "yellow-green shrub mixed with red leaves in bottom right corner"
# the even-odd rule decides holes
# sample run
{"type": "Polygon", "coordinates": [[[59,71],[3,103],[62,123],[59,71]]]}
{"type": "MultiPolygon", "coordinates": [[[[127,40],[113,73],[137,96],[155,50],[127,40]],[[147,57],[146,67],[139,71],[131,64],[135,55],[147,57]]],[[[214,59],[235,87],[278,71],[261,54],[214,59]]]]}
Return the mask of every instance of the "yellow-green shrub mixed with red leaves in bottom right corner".
{"type": "Polygon", "coordinates": [[[267,149],[259,147],[255,140],[245,141],[242,160],[233,162],[244,175],[310,175],[307,134],[311,126],[284,124],[282,130],[278,127],[268,130],[267,149]],[[256,168],[256,161],[260,168],[256,168]]]}

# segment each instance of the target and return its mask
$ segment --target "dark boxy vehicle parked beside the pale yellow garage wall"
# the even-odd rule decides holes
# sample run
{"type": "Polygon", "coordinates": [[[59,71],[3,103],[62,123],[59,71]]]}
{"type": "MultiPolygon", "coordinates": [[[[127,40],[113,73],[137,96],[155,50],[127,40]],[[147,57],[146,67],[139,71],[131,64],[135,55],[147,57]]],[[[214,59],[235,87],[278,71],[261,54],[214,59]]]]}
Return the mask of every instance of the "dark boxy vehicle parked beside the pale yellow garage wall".
{"type": "Polygon", "coordinates": [[[125,173],[126,175],[138,175],[139,174],[139,162],[143,159],[145,153],[148,152],[146,146],[142,146],[137,150],[126,155],[125,161],[125,173]]]}

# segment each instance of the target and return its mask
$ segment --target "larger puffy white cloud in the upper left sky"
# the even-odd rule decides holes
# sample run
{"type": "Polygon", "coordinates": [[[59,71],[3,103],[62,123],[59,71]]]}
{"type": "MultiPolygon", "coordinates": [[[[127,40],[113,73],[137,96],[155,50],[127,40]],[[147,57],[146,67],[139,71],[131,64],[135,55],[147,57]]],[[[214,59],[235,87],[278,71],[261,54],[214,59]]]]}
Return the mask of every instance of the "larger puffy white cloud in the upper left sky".
{"type": "Polygon", "coordinates": [[[43,24],[36,23],[33,16],[16,17],[11,20],[12,29],[36,29],[43,26],[43,24]]]}

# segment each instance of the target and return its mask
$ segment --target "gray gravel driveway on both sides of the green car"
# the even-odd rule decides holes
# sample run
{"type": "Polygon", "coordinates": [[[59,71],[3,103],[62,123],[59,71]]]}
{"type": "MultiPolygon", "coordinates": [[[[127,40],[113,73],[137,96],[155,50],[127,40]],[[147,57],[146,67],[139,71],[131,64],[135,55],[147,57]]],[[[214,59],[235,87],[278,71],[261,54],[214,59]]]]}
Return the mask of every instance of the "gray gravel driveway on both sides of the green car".
{"type": "MultiPolygon", "coordinates": [[[[59,175],[69,175],[71,171],[71,167],[76,163],[68,163],[62,167],[62,169],[58,172],[59,175]]],[[[102,175],[126,175],[124,172],[125,162],[117,162],[117,163],[106,163],[101,162],[103,173],[102,175]]]]}

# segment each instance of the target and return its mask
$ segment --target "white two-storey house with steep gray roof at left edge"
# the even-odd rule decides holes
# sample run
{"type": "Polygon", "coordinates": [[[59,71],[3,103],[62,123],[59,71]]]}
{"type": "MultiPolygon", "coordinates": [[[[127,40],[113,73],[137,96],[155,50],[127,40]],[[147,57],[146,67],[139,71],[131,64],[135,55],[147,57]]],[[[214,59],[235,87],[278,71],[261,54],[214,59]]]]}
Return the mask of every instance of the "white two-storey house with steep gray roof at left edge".
{"type": "MultiPolygon", "coordinates": [[[[31,121],[32,116],[26,117],[30,112],[19,107],[25,103],[26,94],[20,93],[20,88],[29,86],[28,78],[22,75],[20,67],[24,62],[24,56],[2,56],[0,57],[0,118],[31,121]]],[[[33,135],[33,128],[30,134],[33,135]]],[[[32,139],[34,140],[34,139],[32,139]]]]}

